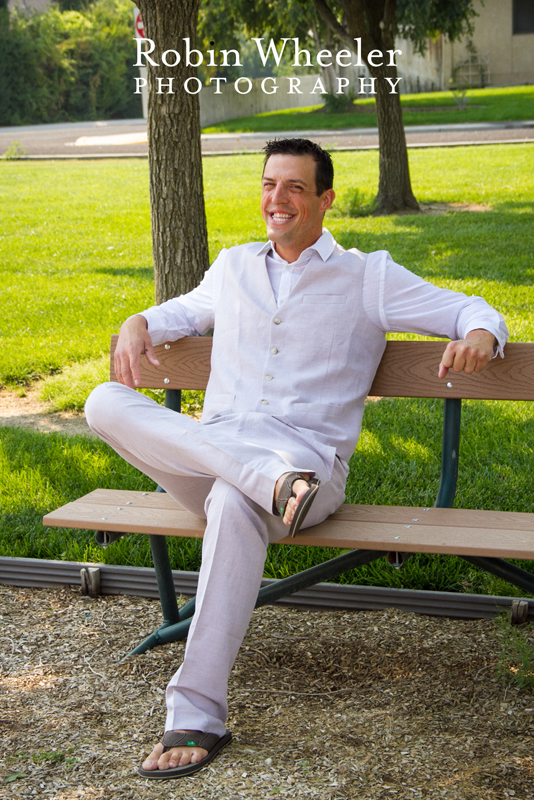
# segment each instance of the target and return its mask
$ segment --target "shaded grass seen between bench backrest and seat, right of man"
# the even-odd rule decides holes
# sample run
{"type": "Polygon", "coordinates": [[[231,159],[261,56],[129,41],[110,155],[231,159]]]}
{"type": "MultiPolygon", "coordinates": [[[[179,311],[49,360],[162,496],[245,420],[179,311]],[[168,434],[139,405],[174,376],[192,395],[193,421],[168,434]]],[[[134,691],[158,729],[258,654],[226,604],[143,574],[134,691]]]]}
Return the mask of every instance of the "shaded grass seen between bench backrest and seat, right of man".
{"type": "MultiPolygon", "coordinates": [[[[433,505],[440,477],[443,400],[368,403],[350,461],[354,503],[433,505]]],[[[534,413],[528,402],[464,400],[458,490],[461,508],[534,513],[534,413]]]]}

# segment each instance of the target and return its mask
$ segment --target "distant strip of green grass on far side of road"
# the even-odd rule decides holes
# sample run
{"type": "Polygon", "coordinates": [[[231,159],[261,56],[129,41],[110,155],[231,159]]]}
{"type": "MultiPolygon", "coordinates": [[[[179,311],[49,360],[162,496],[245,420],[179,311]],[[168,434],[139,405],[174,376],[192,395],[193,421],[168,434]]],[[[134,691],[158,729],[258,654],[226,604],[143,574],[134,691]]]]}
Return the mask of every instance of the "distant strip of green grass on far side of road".
{"type": "MultiPolygon", "coordinates": [[[[503,122],[534,119],[534,86],[470,89],[465,109],[460,110],[452,92],[424,92],[401,96],[405,125],[447,125],[458,122],[503,122]]],[[[326,114],[322,103],[307,108],[268,111],[252,117],[219,122],[203,133],[252,133],[255,131],[310,131],[376,127],[373,98],[358,100],[355,111],[326,114]]]]}

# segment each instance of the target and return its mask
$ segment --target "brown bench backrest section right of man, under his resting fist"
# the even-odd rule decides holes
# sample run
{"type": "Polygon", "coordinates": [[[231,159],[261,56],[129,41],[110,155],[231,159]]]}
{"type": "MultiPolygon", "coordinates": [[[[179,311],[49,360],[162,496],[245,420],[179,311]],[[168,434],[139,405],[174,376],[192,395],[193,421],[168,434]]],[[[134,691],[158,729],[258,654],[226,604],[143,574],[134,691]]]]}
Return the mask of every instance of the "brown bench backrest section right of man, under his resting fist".
{"type": "Polygon", "coordinates": [[[446,342],[389,341],[369,391],[375,397],[534,400],[534,343],[507,344],[478,374],[438,378],[446,342]],[[447,384],[450,383],[451,387],[447,384]]]}

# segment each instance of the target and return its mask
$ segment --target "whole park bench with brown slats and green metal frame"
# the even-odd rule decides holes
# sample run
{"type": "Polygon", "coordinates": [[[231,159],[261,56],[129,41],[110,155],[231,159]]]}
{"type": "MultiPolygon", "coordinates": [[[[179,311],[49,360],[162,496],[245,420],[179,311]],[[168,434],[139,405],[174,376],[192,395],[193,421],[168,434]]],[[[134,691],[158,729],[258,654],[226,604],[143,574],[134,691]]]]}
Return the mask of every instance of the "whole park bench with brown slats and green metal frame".
{"type": "MultiPolygon", "coordinates": [[[[117,378],[112,337],[110,380],[117,378]]],[[[165,405],[181,408],[182,389],[205,389],[212,340],[186,337],[155,348],[160,367],[141,359],[141,387],[165,389],[165,405]]],[[[534,559],[534,514],[451,508],[456,492],[462,399],[534,400],[534,343],[508,344],[505,358],[494,359],[473,375],[437,377],[443,342],[390,341],[377,370],[371,396],[444,399],[441,479],[433,508],[342,505],[320,525],[302,530],[280,544],[340,547],[352,552],[333,558],[260,590],[256,606],[341,575],[385,555],[400,566],[414,553],[461,556],[488,572],[534,594],[534,574],[503,558],[534,559]]],[[[194,598],[178,609],[166,536],[201,537],[205,521],[181,508],[158,487],[156,492],[96,489],[52,511],[44,525],[96,530],[107,545],[126,533],[150,536],[164,621],[130,655],[187,636],[194,598]]]]}

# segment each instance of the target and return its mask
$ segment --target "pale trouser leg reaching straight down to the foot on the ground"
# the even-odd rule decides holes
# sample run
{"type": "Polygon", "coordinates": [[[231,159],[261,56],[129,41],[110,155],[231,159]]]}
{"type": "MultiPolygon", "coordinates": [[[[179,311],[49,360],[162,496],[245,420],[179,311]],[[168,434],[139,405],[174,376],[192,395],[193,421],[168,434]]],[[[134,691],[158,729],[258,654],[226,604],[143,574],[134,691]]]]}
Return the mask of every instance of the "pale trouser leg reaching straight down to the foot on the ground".
{"type": "Polygon", "coordinates": [[[166,730],[221,736],[228,676],[254,610],[275,518],[222,479],[212,487],[206,513],[196,612],[184,662],[167,687],[166,730]]]}

